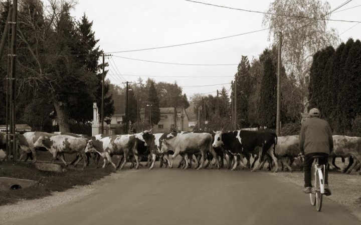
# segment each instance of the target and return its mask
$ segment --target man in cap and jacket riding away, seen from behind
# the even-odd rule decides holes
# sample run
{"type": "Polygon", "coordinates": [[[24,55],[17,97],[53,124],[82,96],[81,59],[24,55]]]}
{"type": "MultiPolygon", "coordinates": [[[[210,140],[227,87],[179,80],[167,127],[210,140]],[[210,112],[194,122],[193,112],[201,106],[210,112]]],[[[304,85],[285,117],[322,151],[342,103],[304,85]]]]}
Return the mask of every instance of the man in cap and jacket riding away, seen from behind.
{"type": "Polygon", "coordinates": [[[326,120],[319,118],[320,112],[317,108],[309,110],[309,116],[301,125],[299,134],[299,147],[301,154],[304,154],[304,189],[305,193],[312,192],[311,184],[311,167],[314,155],[321,155],[319,164],[325,165],[324,189],[325,195],[331,195],[328,187],[328,155],[333,149],[333,139],[331,128],[326,120]]]}

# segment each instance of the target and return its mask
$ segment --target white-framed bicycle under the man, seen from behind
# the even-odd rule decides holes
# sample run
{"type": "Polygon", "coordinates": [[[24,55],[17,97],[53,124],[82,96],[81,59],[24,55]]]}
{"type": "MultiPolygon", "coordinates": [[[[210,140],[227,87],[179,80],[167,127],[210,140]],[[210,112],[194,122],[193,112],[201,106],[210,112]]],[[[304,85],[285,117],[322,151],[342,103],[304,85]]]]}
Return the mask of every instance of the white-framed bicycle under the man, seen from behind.
{"type": "Polygon", "coordinates": [[[313,185],[312,185],[312,193],[310,193],[310,200],[311,204],[316,204],[317,211],[321,211],[322,207],[322,196],[324,194],[324,176],[325,176],[325,165],[318,165],[318,158],[321,158],[323,156],[315,155],[312,158],[314,158],[314,166],[312,166],[312,172],[313,174],[312,179],[313,185]],[[323,172],[322,172],[323,171],[323,172]]]}

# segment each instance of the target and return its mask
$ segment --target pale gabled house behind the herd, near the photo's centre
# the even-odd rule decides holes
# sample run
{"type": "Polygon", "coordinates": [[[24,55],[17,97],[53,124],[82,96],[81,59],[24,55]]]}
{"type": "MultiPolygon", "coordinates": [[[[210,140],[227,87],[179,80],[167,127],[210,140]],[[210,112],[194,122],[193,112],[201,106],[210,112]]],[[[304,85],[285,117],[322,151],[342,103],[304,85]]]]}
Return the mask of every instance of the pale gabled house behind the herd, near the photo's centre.
{"type": "MultiPolygon", "coordinates": [[[[185,108],[176,108],[176,129],[174,129],[174,107],[159,108],[159,111],[160,120],[158,124],[153,126],[153,131],[155,133],[169,132],[173,130],[192,131],[192,129],[189,127],[189,118],[185,108]]],[[[149,124],[149,114],[147,112],[147,118],[145,118],[144,108],[139,110],[139,114],[140,119],[143,122],[149,124]]]]}

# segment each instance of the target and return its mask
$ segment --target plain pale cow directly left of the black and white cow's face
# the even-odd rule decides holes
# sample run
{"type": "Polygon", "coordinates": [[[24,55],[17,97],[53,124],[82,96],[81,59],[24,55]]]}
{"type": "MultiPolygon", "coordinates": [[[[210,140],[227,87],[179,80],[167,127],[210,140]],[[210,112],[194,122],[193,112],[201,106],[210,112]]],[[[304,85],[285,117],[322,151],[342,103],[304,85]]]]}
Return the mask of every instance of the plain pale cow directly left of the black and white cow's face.
{"type": "Polygon", "coordinates": [[[186,159],[185,168],[188,168],[189,163],[187,153],[197,153],[201,151],[202,161],[197,169],[201,169],[204,166],[207,152],[211,152],[216,159],[217,167],[220,168],[217,154],[212,147],[212,135],[210,133],[183,133],[169,139],[162,139],[160,152],[167,152],[169,149],[174,151],[170,167],[173,166],[174,158],[179,153],[184,153],[186,159]]]}

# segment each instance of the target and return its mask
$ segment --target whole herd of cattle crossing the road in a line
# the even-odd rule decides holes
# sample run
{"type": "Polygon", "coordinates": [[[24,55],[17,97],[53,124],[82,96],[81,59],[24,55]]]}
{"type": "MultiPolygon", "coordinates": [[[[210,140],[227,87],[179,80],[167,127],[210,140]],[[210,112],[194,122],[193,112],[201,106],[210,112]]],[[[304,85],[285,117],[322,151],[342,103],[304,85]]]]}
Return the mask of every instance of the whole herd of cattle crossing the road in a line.
{"type": "MultiPolygon", "coordinates": [[[[333,135],[334,149],[329,157],[329,164],[336,169],[349,173],[352,169],[360,169],[361,162],[361,137],[350,137],[333,135]],[[342,162],[348,158],[349,163],[341,169],[335,164],[335,158],[341,157],[342,162]],[[332,161],[332,162],[331,162],[332,161]]],[[[6,133],[0,132],[0,149],[6,148],[6,133]]],[[[127,161],[131,162],[131,168],[139,167],[142,157],[147,157],[146,166],[154,167],[156,158],[169,168],[173,167],[174,158],[182,156],[178,167],[189,168],[194,163],[194,168],[201,169],[211,165],[218,168],[224,167],[226,159],[229,169],[252,168],[251,171],[261,169],[268,161],[268,168],[274,172],[278,171],[278,164],[282,169],[292,171],[291,165],[295,158],[302,161],[298,146],[298,135],[277,136],[273,132],[265,131],[213,131],[213,132],[167,132],[152,133],[145,130],[140,133],[125,135],[97,134],[87,136],[83,134],[63,132],[26,132],[17,135],[20,159],[33,162],[37,161],[37,151],[49,151],[53,160],[58,157],[64,162],[64,153],[76,153],[75,159],[70,163],[76,166],[84,159],[83,168],[89,165],[89,159],[93,158],[97,165],[100,157],[104,160],[103,168],[111,163],[115,170],[122,169],[127,161]],[[169,157],[172,154],[172,157],[169,157]],[[118,157],[117,165],[114,164],[112,156],[118,157]],[[244,157],[247,159],[244,164],[244,157]],[[251,165],[251,158],[254,158],[251,165]],[[207,161],[207,164],[205,164],[207,161]]],[[[361,174],[361,171],[359,172],[361,174]]]]}

